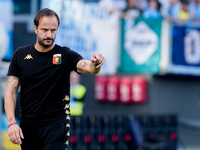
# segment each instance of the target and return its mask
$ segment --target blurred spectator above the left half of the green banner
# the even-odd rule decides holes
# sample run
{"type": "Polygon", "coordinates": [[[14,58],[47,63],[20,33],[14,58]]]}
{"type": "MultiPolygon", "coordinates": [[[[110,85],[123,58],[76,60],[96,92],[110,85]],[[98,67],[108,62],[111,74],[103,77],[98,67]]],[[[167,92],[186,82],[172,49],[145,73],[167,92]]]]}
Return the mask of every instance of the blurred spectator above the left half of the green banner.
{"type": "Polygon", "coordinates": [[[122,10],[121,18],[137,18],[141,15],[141,10],[136,7],[136,0],[127,0],[127,6],[122,10]]]}

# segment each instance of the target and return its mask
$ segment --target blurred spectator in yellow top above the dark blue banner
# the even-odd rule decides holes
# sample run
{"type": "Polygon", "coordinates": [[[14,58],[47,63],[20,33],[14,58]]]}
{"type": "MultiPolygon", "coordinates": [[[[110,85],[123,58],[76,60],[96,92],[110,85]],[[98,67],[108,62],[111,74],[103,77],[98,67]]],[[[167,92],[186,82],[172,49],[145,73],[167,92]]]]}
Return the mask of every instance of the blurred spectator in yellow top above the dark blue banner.
{"type": "Polygon", "coordinates": [[[187,0],[182,1],[181,10],[179,12],[179,20],[181,21],[189,20],[188,5],[189,5],[189,2],[187,0]]]}

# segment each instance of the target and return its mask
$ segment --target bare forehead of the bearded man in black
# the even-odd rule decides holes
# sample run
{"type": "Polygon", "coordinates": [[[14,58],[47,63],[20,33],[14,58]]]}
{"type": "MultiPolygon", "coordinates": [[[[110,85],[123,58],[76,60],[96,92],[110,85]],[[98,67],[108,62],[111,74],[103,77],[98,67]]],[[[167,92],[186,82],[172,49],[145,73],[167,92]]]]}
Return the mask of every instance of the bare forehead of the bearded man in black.
{"type": "Polygon", "coordinates": [[[39,20],[39,27],[57,28],[58,20],[56,16],[43,16],[39,20]]]}

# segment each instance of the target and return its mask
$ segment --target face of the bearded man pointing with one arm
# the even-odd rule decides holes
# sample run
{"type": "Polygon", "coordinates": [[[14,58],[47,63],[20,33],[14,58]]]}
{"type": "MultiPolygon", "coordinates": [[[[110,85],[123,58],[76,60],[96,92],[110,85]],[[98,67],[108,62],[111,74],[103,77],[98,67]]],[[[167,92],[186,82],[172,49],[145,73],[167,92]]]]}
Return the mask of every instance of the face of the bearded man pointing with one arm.
{"type": "Polygon", "coordinates": [[[45,48],[53,45],[58,30],[58,20],[55,16],[43,16],[38,27],[34,26],[37,43],[45,48]]]}

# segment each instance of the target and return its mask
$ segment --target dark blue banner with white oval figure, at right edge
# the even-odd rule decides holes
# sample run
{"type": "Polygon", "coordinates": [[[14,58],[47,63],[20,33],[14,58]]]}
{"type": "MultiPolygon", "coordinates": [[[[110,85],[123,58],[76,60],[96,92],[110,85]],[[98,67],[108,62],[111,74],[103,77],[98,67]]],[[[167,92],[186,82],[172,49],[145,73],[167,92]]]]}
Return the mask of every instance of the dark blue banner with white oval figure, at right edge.
{"type": "Polygon", "coordinates": [[[200,26],[172,24],[170,62],[173,74],[200,76],[200,26]]]}

